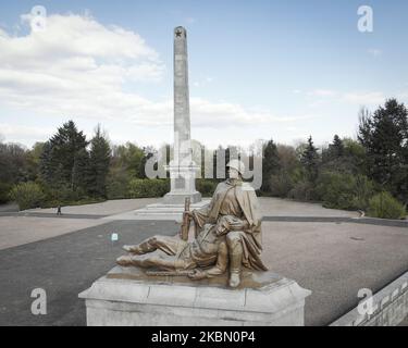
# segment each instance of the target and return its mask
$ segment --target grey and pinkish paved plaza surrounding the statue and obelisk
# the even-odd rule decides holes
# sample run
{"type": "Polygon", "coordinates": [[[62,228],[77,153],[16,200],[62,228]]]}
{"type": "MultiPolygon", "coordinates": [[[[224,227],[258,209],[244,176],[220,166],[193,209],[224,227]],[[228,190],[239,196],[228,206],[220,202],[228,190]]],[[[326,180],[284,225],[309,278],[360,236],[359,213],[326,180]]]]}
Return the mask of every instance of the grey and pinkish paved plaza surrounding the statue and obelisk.
{"type": "MultiPolygon", "coordinates": [[[[172,221],[118,220],[158,199],[113,200],[55,210],[0,212],[0,325],[85,325],[77,294],[106,274],[121,246],[172,236],[172,221]],[[112,217],[110,217],[112,216],[112,217]],[[111,241],[111,234],[119,241],[111,241]],[[47,291],[48,314],[30,313],[30,291],[47,291]]],[[[263,259],[270,270],[312,290],[307,325],[327,325],[356,307],[360,288],[378,291],[408,270],[408,224],[355,212],[260,198],[263,259]]]]}

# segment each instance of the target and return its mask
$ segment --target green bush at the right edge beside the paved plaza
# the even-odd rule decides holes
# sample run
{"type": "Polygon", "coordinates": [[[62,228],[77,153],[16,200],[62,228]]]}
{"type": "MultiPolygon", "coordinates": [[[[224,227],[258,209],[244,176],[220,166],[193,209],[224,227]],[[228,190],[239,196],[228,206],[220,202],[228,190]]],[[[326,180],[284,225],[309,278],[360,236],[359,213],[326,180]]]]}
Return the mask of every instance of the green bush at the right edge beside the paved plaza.
{"type": "Polygon", "coordinates": [[[405,219],[405,207],[390,192],[383,191],[370,199],[368,215],[380,219],[405,219]]]}

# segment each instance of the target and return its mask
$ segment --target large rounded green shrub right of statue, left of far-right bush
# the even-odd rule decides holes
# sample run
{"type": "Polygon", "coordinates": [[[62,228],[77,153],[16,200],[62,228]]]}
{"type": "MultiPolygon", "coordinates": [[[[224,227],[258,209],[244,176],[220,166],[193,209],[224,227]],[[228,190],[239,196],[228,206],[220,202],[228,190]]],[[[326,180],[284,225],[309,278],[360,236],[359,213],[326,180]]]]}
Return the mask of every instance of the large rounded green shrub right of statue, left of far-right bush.
{"type": "Polygon", "coordinates": [[[367,210],[373,196],[373,184],[363,175],[326,172],[317,186],[323,206],[333,209],[367,210]]]}

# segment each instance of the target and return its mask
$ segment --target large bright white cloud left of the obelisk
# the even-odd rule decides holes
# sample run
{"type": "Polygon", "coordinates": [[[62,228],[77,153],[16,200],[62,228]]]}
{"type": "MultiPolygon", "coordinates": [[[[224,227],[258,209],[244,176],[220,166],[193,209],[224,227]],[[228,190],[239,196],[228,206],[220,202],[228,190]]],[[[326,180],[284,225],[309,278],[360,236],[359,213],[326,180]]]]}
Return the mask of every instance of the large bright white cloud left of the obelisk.
{"type": "Polygon", "coordinates": [[[169,102],[123,91],[125,83],[158,82],[164,71],[159,54],[136,33],[103,26],[90,16],[55,14],[41,32],[0,32],[0,51],[4,107],[145,124],[152,113],[159,120],[168,115],[169,102]]]}

